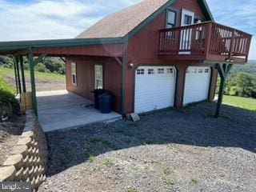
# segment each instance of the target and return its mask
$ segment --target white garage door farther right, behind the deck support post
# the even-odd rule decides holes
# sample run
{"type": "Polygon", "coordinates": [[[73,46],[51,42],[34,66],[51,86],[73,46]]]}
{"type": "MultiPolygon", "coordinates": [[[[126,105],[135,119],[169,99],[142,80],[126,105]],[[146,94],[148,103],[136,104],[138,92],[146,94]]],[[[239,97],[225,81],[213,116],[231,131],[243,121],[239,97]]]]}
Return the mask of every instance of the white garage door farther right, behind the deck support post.
{"type": "Polygon", "coordinates": [[[190,66],[186,70],[183,105],[206,100],[210,88],[210,67],[190,66]]]}

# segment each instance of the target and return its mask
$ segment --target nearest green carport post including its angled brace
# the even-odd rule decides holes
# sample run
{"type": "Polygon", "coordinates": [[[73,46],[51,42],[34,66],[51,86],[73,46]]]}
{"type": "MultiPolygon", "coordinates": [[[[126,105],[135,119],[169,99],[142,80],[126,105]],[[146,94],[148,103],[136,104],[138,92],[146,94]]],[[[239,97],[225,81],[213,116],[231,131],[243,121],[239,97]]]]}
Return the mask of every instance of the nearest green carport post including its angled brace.
{"type": "Polygon", "coordinates": [[[33,51],[31,47],[28,47],[28,62],[30,64],[30,82],[32,90],[32,104],[34,109],[34,114],[38,116],[38,102],[35,89],[35,76],[34,76],[34,67],[46,57],[46,54],[42,54],[38,58],[34,59],[33,51]]]}

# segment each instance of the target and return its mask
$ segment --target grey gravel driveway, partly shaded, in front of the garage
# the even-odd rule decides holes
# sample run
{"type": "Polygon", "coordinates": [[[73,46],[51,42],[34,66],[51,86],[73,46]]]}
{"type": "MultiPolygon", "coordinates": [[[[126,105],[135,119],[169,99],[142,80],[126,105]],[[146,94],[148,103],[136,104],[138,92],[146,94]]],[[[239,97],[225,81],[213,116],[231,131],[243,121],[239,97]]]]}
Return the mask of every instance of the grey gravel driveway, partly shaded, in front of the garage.
{"type": "Polygon", "coordinates": [[[256,191],[256,113],[214,103],[47,134],[39,191],[256,191]]]}

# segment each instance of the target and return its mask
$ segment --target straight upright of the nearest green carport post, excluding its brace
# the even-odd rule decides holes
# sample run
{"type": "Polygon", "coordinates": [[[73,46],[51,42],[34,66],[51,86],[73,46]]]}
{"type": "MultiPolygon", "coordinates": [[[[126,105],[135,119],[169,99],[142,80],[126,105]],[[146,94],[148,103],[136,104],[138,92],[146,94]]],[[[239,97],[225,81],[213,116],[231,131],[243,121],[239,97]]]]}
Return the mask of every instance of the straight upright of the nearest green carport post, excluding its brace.
{"type": "Polygon", "coordinates": [[[34,114],[38,116],[38,104],[37,104],[37,96],[35,90],[35,78],[34,78],[34,56],[31,47],[29,47],[28,53],[28,62],[30,63],[30,82],[31,82],[31,90],[32,90],[32,102],[34,114]]]}

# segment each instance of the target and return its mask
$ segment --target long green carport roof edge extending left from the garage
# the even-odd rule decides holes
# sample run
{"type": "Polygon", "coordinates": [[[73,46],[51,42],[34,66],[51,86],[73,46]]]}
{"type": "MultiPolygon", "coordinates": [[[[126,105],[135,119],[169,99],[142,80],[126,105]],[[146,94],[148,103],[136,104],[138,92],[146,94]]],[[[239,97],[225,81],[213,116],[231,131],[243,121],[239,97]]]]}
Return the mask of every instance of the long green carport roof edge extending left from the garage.
{"type": "Polygon", "coordinates": [[[53,40],[0,42],[0,54],[16,54],[28,48],[122,44],[122,38],[69,38],[53,40]]]}

